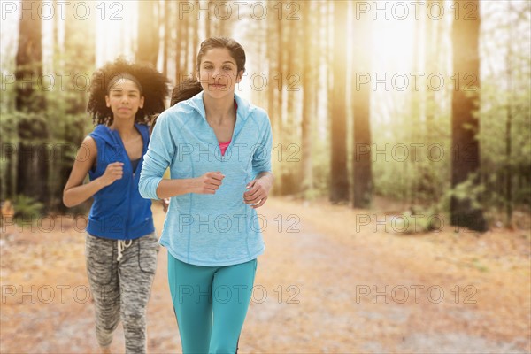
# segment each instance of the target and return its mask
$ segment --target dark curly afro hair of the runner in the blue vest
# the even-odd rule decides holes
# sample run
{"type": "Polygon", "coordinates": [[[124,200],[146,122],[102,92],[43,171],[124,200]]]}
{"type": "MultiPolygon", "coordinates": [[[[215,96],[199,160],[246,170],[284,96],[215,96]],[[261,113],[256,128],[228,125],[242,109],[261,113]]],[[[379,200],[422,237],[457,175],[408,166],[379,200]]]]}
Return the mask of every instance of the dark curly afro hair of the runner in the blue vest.
{"type": "Polygon", "coordinates": [[[150,66],[131,64],[124,58],[118,58],[97,69],[92,74],[90,82],[89,104],[87,111],[92,116],[92,121],[97,124],[112,124],[112,111],[105,103],[105,95],[109,93],[110,83],[118,77],[127,78],[133,76],[137,84],[142,87],[141,95],[144,96],[144,104],[136,112],[135,123],[147,124],[152,114],[165,110],[165,97],[168,96],[168,79],[150,66]]]}

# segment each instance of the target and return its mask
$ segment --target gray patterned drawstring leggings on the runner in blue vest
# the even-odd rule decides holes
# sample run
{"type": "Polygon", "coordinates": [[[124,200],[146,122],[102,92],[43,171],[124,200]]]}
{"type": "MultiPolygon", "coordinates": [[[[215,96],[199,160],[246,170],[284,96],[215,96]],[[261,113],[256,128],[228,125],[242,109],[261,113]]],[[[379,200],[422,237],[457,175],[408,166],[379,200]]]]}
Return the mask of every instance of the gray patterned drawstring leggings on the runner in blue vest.
{"type": "Polygon", "coordinates": [[[87,234],[85,246],[97,342],[102,347],[110,345],[121,319],[126,352],[145,353],[146,307],[157,268],[157,235],[123,242],[87,234]]]}

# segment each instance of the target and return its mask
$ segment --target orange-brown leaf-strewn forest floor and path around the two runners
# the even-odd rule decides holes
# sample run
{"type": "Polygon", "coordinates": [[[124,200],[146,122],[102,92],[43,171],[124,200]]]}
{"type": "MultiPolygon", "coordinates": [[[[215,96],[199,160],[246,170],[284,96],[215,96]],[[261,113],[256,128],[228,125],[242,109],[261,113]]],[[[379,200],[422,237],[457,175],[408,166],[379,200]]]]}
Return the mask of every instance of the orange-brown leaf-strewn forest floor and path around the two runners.
{"type": "MultiPolygon", "coordinates": [[[[164,213],[153,209],[160,230],[164,213]]],[[[531,352],[528,224],[481,235],[448,225],[405,234],[392,218],[386,230],[386,209],[269,199],[258,210],[266,253],[239,352],[531,352]]],[[[4,225],[1,353],[97,352],[82,221],[4,225]]],[[[161,248],[148,308],[151,353],[181,351],[166,259],[161,248]]],[[[124,351],[121,327],[112,350],[124,351]]]]}

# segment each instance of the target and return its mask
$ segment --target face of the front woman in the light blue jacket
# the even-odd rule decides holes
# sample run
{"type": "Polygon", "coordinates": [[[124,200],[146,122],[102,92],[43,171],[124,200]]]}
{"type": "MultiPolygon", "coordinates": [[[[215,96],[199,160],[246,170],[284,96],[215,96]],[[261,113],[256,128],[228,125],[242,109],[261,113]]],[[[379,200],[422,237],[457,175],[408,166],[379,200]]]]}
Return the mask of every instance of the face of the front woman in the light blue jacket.
{"type": "Polygon", "coordinates": [[[204,95],[221,98],[235,94],[235,86],[242,80],[243,72],[238,74],[236,61],[227,48],[207,50],[201,64],[197,80],[201,82],[204,95]]]}

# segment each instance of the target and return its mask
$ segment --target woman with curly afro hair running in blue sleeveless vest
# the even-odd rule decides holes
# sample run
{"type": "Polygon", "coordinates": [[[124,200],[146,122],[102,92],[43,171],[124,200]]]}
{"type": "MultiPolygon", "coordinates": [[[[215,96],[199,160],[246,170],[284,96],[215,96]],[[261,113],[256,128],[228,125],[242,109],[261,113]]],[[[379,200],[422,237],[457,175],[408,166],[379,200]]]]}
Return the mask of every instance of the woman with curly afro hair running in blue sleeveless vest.
{"type": "Polygon", "coordinates": [[[157,267],[150,200],[138,192],[150,140],[148,117],[162,112],[167,79],[123,59],[92,77],[88,110],[96,128],[85,138],[66,182],[67,207],[94,197],[86,235],[87,272],[96,305],[96,338],[110,352],[121,319],[126,352],[146,352],[146,306],[157,267]],[[89,174],[89,183],[83,183],[89,174]]]}

